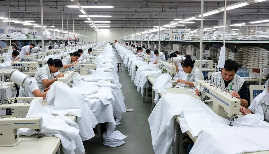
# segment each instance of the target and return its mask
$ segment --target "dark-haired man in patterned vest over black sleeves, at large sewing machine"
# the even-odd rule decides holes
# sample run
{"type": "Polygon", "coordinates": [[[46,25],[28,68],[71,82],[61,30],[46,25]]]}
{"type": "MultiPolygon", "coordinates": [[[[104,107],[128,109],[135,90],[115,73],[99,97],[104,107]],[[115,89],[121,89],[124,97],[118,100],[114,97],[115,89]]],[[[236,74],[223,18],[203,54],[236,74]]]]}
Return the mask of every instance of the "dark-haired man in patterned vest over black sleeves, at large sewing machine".
{"type": "MultiPolygon", "coordinates": [[[[238,70],[238,63],[232,59],[225,60],[224,68],[221,72],[215,72],[210,76],[209,80],[217,85],[226,89],[232,88],[232,96],[240,100],[241,106],[248,106],[248,89],[246,81],[236,74],[238,70]]],[[[198,89],[195,90],[196,94],[200,96],[198,89]]]]}

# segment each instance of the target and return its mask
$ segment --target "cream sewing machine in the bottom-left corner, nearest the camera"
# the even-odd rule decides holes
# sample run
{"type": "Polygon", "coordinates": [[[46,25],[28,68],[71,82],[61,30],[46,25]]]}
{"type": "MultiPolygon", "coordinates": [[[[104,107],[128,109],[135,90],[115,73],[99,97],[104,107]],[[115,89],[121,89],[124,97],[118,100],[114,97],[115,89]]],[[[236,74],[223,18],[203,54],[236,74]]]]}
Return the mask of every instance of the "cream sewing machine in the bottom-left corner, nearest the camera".
{"type": "Polygon", "coordinates": [[[39,135],[40,129],[43,125],[42,117],[33,118],[1,118],[0,119],[0,147],[3,146],[17,146],[21,139],[18,139],[18,128],[32,128],[38,132],[37,138],[42,138],[39,135]]]}

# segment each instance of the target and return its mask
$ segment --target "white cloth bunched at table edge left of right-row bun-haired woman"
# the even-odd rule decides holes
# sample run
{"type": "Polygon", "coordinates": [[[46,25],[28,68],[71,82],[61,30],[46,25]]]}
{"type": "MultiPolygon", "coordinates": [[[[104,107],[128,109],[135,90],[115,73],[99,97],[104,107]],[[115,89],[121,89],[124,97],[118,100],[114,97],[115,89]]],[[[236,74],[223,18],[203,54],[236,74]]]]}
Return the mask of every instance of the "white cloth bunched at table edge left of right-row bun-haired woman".
{"type": "Polygon", "coordinates": [[[156,104],[160,99],[159,93],[164,93],[168,88],[172,88],[171,75],[169,73],[164,73],[155,79],[155,84],[152,90],[155,91],[154,103],[156,104]]]}

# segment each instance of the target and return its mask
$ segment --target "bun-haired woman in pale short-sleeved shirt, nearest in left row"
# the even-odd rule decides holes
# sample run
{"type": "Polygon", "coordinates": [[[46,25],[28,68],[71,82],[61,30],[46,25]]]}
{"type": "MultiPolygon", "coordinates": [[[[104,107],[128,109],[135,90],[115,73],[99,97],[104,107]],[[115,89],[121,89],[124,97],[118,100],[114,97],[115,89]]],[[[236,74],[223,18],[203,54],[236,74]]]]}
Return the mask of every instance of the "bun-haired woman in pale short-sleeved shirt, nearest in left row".
{"type": "Polygon", "coordinates": [[[37,81],[38,87],[41,92],[45,92],[48,86],[57,81],[58,78],[63,76],[63,73],[59,73],[55,76],[54,73],[58,72],[62,69],[63,64],[60,59],[52,59],[49,58],[47,61],[47,65],[41,67],[40,70],[36,72],[34,78],[37,81]]]}

